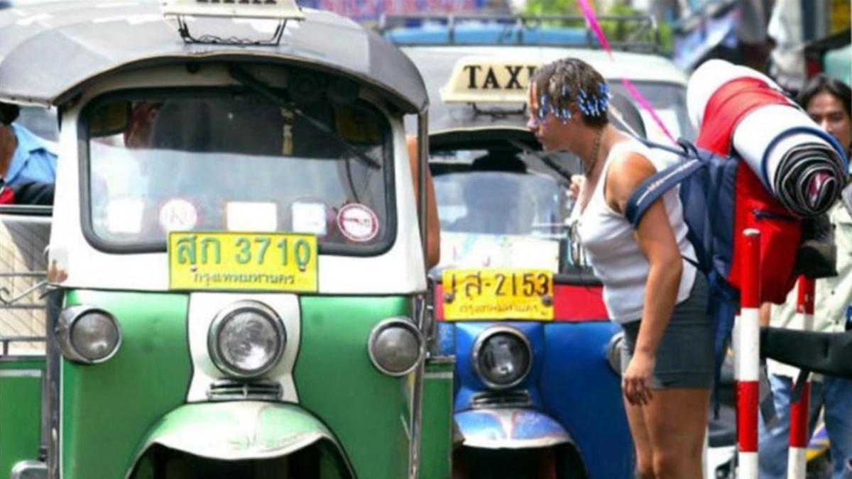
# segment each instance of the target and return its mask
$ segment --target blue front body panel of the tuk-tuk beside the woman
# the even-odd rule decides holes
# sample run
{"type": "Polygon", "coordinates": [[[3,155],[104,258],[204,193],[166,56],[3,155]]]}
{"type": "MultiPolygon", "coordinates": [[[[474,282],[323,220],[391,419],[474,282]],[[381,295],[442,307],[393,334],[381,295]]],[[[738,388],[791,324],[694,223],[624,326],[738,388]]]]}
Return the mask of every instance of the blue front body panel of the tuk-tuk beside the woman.
{"type": "Polygon", "coordinates": [[[440,345],[455,352],[455,418],[459,429],[480,437],[553,434],[558,426],[573,439],[590,479],[632,479],[633,444],[621,395],[621,378],[607,362],[607,346],[620,326],[610,321],[458,321],[440,323],[440,345]],[[529,415],[518,414],[507,433],[505,420],[471,408],[488,391],[473,366],[476,337],[490,326],[514,326],[529,339],[533,367],[513,390],[527,390],[529,415]],[[531,420],[520,424],[521,420],[531,420]],[[519,421],[516,423],[516,421],[519,421]],[[492,431],[486,432],[487,428],[492,431]],[[528,429],[527,429],[528,428],[528,429]]]}

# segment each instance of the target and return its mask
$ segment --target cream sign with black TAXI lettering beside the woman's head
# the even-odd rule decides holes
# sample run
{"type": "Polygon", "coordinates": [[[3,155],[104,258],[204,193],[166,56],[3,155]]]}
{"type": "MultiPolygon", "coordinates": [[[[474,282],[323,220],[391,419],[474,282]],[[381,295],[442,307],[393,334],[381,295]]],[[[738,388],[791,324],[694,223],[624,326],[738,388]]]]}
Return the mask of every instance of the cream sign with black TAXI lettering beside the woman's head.
{"type": "Polygon", "coordinates": [[[466,57],[456,62],[440,89],[445,103],[526,103],[538,61],[466,57]]]}

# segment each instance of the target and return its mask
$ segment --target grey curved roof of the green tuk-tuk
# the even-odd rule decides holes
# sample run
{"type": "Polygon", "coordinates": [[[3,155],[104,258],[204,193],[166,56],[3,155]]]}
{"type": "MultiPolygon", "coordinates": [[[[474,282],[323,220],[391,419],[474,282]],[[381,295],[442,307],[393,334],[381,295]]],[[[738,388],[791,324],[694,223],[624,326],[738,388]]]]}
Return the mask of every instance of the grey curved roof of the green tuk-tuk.
{"type": "MultiPolygon", "coordinates": [[[[303,9],[279,45],[184,43],[159,3],[75,0],[0,10],[0,100],[60,105],[115,72],[187,61],[296,61],[348,73],[391,95],[406,113],[429,97],[417,68],[377,34],[337,14],[303,9]]],[[[274,21],[271,22],[272,30],[274,21]]],[[[197,37],[265,40],[267,20],[190,19],[197,37]]]]}

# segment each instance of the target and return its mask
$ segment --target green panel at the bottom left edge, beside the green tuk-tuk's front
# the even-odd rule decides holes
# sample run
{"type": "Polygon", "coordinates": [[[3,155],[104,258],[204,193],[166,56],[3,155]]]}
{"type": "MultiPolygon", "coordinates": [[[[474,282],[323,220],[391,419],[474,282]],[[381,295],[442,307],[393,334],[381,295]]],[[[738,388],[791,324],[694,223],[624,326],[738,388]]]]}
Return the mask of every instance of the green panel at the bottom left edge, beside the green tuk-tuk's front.
{"type": "Polygon", "coordinates": [[[38,459],[44,358],[0,360],[0,477],[38,459]]]}

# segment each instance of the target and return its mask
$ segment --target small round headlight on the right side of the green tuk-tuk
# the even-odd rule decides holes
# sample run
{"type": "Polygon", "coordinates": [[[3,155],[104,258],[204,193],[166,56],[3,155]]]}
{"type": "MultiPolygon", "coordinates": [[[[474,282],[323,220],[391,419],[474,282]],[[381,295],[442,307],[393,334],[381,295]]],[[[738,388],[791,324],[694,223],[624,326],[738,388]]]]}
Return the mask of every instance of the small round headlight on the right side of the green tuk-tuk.
{"type": "Polygon", "coordinates": [[[367,350],[379,371],[405,376],[423,359],[423,334],[407,318],[383,320],[370,333],[367,350]]]}

